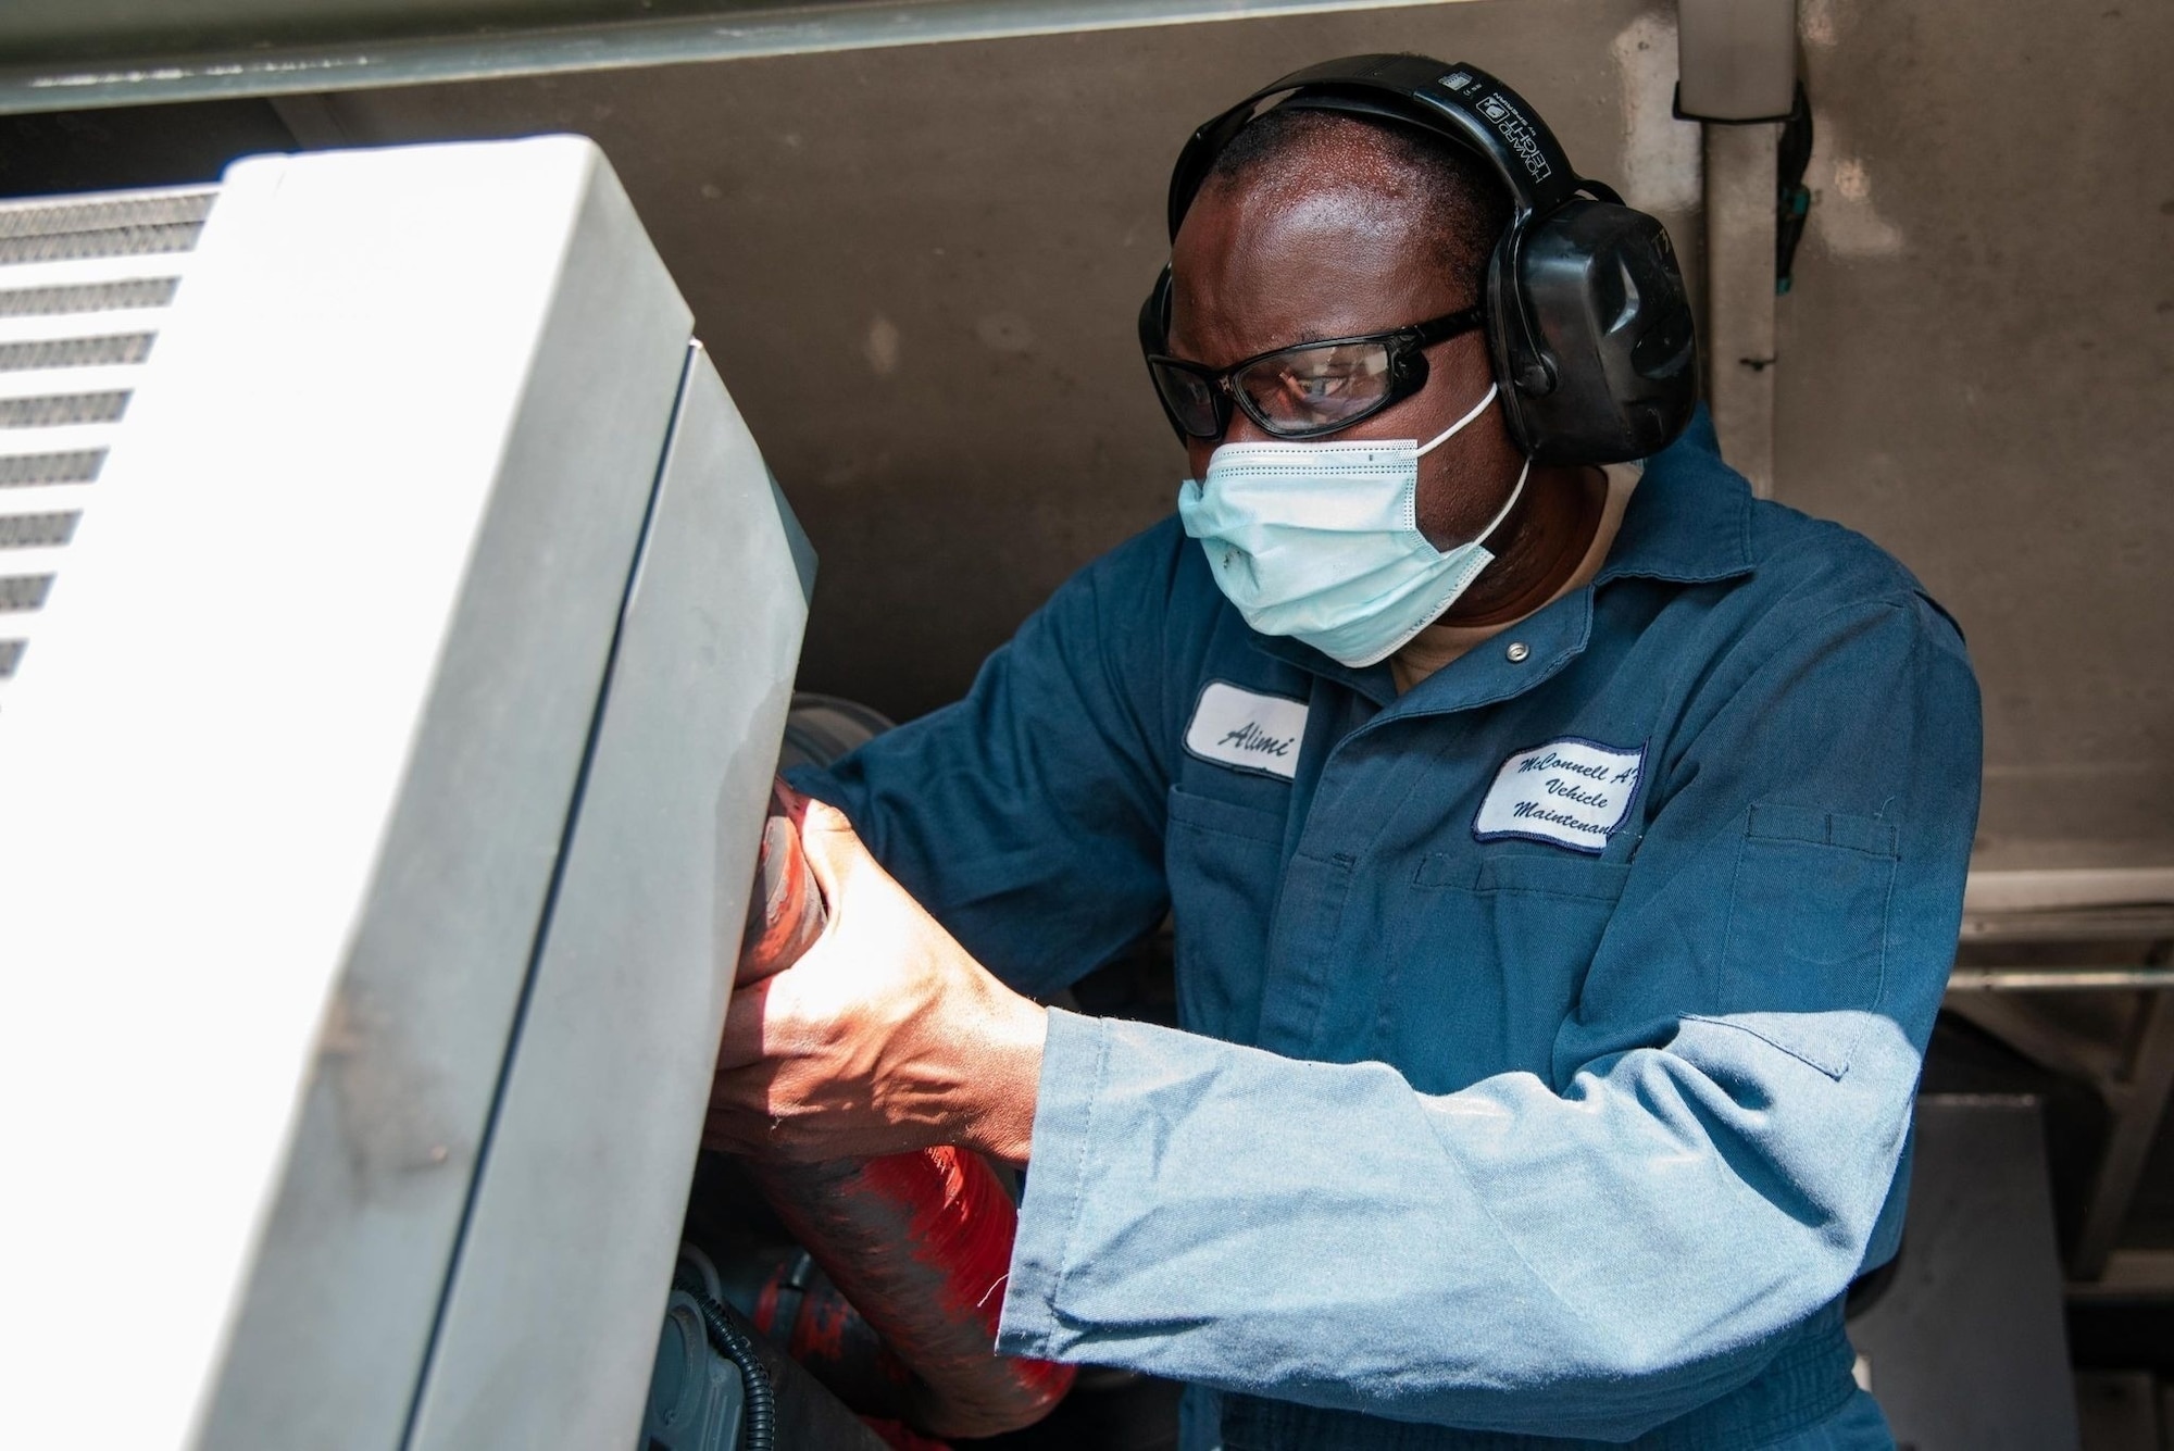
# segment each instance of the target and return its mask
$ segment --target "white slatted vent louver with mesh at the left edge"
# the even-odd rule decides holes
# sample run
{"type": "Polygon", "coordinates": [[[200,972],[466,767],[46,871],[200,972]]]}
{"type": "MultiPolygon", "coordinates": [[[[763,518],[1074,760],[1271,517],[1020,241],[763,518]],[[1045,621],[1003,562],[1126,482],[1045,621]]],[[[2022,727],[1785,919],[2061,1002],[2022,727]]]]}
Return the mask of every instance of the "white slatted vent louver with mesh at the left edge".
{"type": "Polygon", "coordinates": [[[0,708],[215,198],[0,202],[0,708]]]}

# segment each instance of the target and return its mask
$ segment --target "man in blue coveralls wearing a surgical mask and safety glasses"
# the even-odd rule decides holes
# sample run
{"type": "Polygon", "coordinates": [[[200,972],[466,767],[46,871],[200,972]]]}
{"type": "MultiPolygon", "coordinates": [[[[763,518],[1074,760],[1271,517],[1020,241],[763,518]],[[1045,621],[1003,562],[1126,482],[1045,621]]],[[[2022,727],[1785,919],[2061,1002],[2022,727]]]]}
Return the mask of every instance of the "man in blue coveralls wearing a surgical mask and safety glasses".
{"type": "Polygon", "coordinates": [[[798,778],[830,925],[713,1143],[1030,1158],[1000,1347],[1194,1384],[1189,1447],[1891,1444],[1841,1295],[1961,914],[1961,636],[1702,415],[1535,463],[1470,148],[1285,104],[1211,161],[1178,517],[798,778]],[[1183,1032],[1033,1001],[1165,912],[1183,1032]]]}

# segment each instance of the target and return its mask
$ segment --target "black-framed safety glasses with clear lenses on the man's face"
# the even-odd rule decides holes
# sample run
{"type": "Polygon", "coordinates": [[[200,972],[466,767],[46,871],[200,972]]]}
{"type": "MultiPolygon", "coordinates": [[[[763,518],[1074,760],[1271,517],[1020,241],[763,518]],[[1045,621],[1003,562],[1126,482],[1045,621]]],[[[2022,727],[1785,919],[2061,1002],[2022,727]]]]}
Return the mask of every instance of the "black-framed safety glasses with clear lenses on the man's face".
{"type": "Polygon", "coordinates": [[[1220,371],[1150,352],[1148,374],[1172,421],[1194,439],[1224,437],[1233,404],[1278,439],[1311,439],[1417,393],[1426,384],[1422,350],[1483,319],[1480,306],[1467,306],[1389,332],[1276,348],[1220,371]]]}

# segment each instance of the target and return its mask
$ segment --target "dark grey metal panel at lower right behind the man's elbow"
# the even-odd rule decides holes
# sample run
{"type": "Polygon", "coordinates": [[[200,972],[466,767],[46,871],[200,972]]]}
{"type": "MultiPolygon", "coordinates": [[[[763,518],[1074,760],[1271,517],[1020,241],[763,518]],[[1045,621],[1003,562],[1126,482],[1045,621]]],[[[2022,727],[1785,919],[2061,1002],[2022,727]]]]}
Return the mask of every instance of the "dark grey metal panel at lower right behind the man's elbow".
{"type": "Polygon", "coordinates": [[[1915,1451],[2074,1451],[2076,1401],[2037,1099],[1926,1095],[1887,1295],[1850,1323],[1915,1451]]]}

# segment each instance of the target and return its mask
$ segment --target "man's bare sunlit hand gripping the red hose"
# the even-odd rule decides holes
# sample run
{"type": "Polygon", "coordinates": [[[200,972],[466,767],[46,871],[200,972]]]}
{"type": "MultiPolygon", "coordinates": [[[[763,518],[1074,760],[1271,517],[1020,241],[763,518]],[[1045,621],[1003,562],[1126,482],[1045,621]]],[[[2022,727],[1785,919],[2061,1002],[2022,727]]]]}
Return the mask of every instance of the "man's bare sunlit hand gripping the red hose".
{"type": "Polygon", "coordinates": [[[809,802],[800,845],[828,925],[733,993],[702,1143],[789,1160],[963,1145],[1024,1164],[1048,1012],[970,958],[844,815],[809,802]]]}

